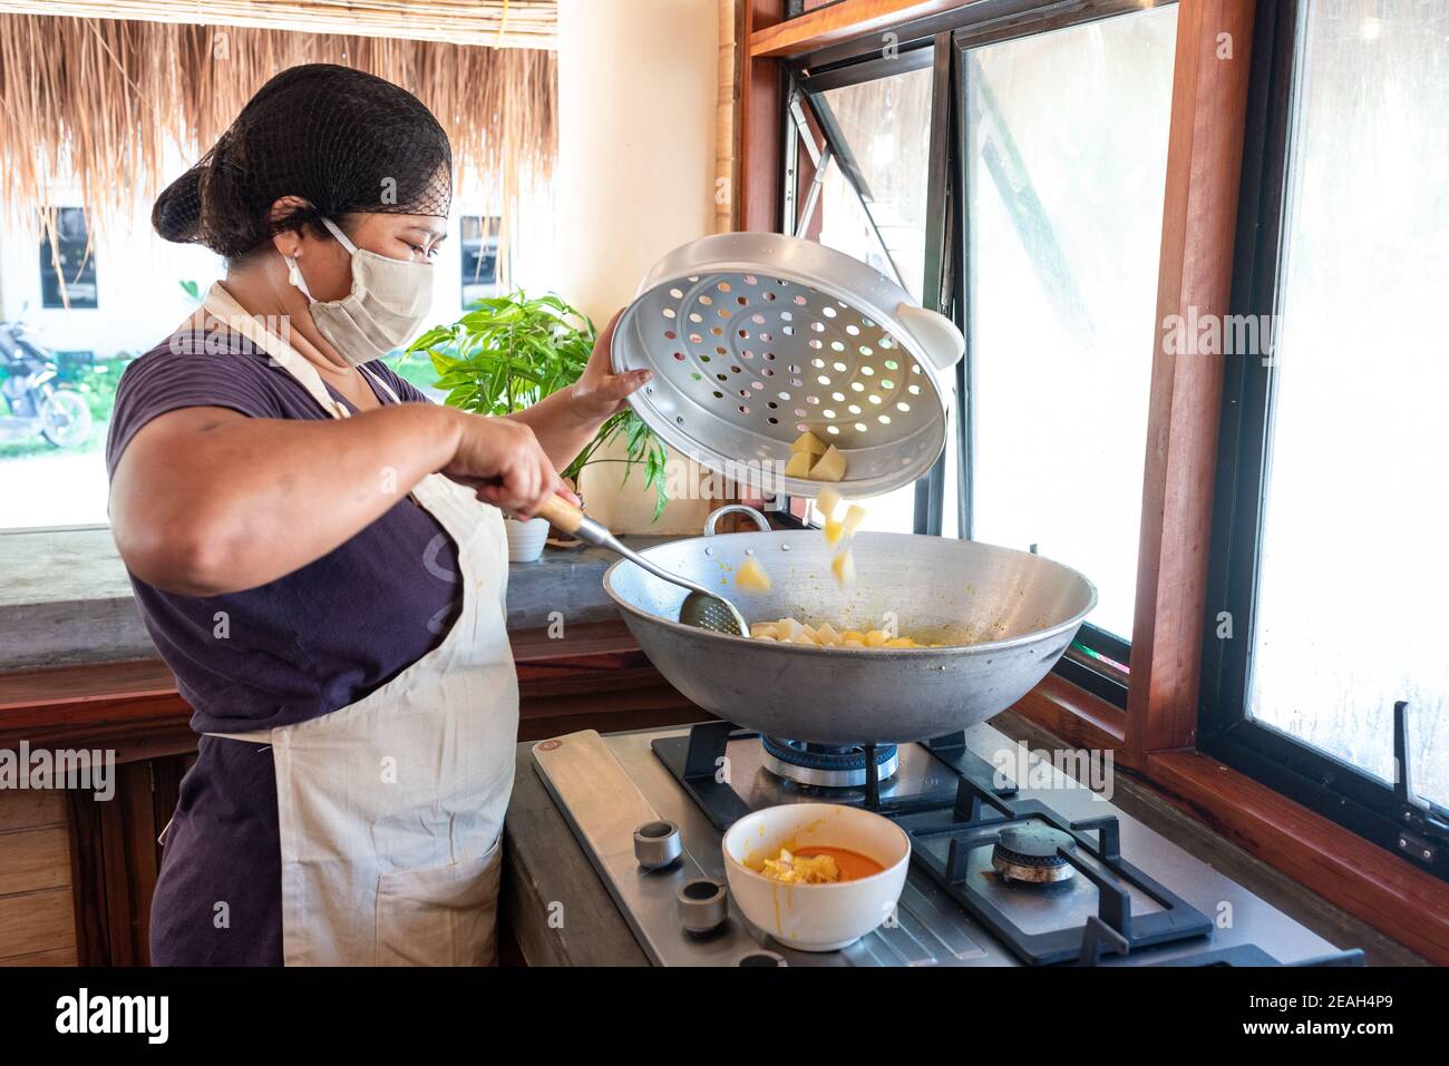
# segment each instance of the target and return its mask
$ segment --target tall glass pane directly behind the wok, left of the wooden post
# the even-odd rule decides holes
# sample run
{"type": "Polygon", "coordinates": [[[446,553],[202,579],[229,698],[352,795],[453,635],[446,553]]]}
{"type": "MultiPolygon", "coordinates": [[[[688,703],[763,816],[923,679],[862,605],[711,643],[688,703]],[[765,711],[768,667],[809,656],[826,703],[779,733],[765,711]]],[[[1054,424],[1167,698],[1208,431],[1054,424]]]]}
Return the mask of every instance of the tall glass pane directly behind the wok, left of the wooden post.
{"type": "Polygon", "coordinates": [[[977,540],[1132,637],[1177,7],[965,54],[977,540]]]}

